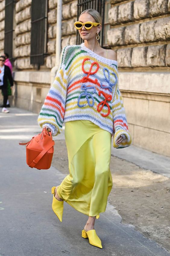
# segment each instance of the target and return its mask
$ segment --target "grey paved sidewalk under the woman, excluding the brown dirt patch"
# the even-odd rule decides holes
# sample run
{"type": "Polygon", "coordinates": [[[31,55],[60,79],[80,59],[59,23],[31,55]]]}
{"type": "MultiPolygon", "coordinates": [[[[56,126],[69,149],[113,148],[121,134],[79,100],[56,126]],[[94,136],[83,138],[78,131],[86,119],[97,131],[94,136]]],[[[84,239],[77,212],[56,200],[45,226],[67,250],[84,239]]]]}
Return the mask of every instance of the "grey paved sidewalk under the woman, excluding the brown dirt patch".
{"type": "MultiPolygon", "coordinates": [[[[81,237],[87,221],[84,214],[65,203],[63,222],[58,221],[51,209],[50,189],[65,175],[54,167],[40,171],[29,168],[25,162],[25,147],[18,145],[41,131],[36,119],[36,114],[17,108],[10,108],[9,114],[0,113],[0,255],[170,255],[159,244],[136,231],[134,226],[121,223],[121,216],[110,204],[95,224],[102,250],[81,237]]],[[[64,139],[64,133],[54,138],[64,139]]],[[[136,147],[129,148],[129,151],[113,150],[112,153],[158,172],[157,159],[161,162],[162,174],[170,174],[168,158],[136,147]]]]}

